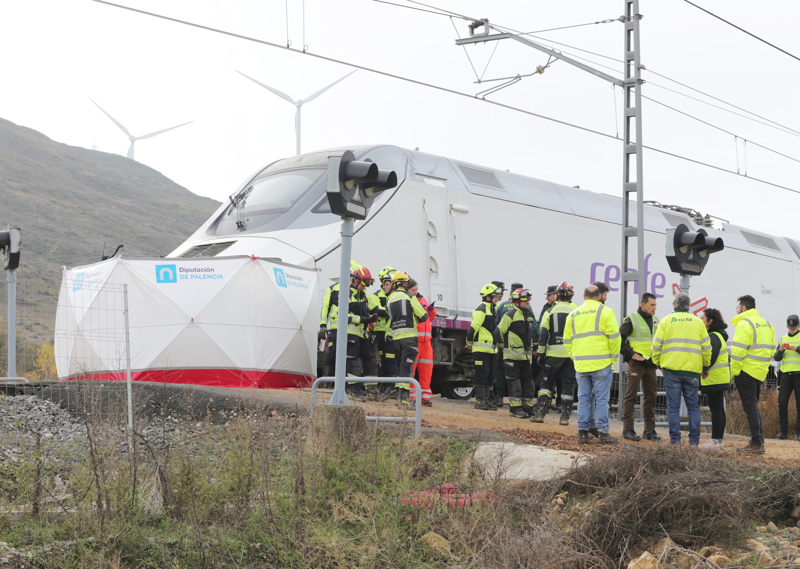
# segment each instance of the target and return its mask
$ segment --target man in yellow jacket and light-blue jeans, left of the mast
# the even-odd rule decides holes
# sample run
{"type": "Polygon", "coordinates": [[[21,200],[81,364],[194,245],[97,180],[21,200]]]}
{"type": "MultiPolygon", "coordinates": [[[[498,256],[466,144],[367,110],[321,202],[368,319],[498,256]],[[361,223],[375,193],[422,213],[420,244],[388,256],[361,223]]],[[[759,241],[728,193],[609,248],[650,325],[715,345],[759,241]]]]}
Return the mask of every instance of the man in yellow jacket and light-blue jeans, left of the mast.
{"type": "Polygon", "coordinates": [[[583,304],[566,317],[564,347],[578,379],[578,444],[589,442],[591,403],[594,399],[598,444],[616,444],[609,435],[608,399],[614,361],[619,356],[619,325],[614,311],[601,302],[601,291],[589,285],[583,304]]]}

